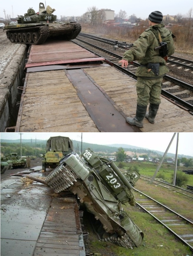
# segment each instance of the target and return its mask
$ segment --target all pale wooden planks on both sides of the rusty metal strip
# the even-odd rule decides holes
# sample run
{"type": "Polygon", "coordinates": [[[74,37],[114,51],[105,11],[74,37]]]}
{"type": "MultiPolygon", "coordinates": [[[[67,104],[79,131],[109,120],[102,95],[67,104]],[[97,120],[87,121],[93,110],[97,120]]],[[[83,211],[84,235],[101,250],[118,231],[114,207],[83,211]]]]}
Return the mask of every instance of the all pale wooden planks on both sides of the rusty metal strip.
{"type": "MultiPolygon", "coordinates": [[[[135,115],[135,80],[111,66],[83,70],[126,116],[135,115]]],[[[19,131],[99,132],[63,70],[28,74],[19,131]]],[[[193,115],[161,97],[155,124],[145,118],[141,131],[192,132],[193,115]]]]}

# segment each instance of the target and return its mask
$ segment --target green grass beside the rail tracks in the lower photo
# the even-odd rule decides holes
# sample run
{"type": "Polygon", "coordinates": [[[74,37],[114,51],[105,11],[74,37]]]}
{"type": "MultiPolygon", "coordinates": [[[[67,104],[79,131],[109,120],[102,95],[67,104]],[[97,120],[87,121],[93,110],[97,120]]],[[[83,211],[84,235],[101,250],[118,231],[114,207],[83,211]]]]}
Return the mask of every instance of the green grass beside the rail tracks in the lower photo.
{"type": "MultiPolygon", "coordinates": [[[[118,165],[118,163],[116,163],[118,165]]],[[[138,167],[140,174],[146,176],[153,176],[157,164],[153,163],[123,163],[124,169],[128,169],[130,166],[138,167]]],[[[179,167],[179,169],[184,169],[179,167]]],[[[174,166],[163,164],[159,172],[166,174],[168,181],[172,182],[171,174],[174,172],[174,166]]],[[[193,184],[193,175],[189,176],[189,185],[193,184]]],[[[167,205],[169,208],[192,219],[192,205],[193,200],[186,198],[173,190],[168,190],[164,187],[150,184],[144,180],[138,180],[136,182],[136,189],[143,193],[155,198],[161,203],[167,205]]],[[[158,224],[150,215],[142,212],[137,206],[130,206],[127,204],[124,206],[125,211],[135,222],[135,224],[143,231],[144,239],[142,244],[133,250],[119,247],[110,242],[99,242],[96,234],[89,229],[89,251],[99,253],[103,256],[161,256],[161,255],[176,255],[186,256],[192,255],[191,251],[176,241],[176,239],[166,230],[165,227],[158,224]]],[[[189,233],[190,234],[190,233],[189,233]]]]}

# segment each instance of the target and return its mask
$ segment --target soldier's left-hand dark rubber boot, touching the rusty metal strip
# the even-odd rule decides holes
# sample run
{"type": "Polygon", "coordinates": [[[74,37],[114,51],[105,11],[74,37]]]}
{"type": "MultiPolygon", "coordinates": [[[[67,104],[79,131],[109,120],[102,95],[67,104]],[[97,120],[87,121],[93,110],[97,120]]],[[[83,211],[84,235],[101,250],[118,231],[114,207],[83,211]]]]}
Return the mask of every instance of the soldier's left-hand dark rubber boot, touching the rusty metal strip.
{"type": "Polygon", "coordinates": [[[145,117],[147,110],[147,106],[142,106],[137,104],[137,110],[136,110],[136,115],[134,118],[127,117],[126,121],[127,123],[131,125],[136,125],[139,128],[143,127],[143,118],[145,117]]]}

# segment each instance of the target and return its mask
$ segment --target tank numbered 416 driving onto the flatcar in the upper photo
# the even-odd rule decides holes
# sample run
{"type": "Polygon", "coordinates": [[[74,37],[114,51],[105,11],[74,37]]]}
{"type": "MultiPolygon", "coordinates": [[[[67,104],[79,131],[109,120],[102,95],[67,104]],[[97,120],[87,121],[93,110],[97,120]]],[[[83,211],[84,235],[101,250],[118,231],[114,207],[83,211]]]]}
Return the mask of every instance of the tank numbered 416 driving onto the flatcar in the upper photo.
{"type": "Polygon", "coordinates": [[[28,9],[27,13],[18,15],[17,24],[8,24],[4,27],[7,38],[12,43],[42,44],[48,37],[60,40],[71,40],[81,31],[81,25],[76,22],[56,21],[53,15],[55,9],[49,5],[45,9],[43,3],[39,4],[39,12],[28,9]]]}

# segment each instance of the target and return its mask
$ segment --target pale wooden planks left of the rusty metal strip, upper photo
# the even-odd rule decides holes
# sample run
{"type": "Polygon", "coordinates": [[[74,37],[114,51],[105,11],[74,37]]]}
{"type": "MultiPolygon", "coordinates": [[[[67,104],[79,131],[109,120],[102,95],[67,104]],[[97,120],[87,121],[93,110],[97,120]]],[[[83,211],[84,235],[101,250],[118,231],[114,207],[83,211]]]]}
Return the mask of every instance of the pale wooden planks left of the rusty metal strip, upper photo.
{"type": "Polygon", "coordinates": [[[63,70],[28,74],[19,131],[50,130],[98,132],[63,70]]]}

